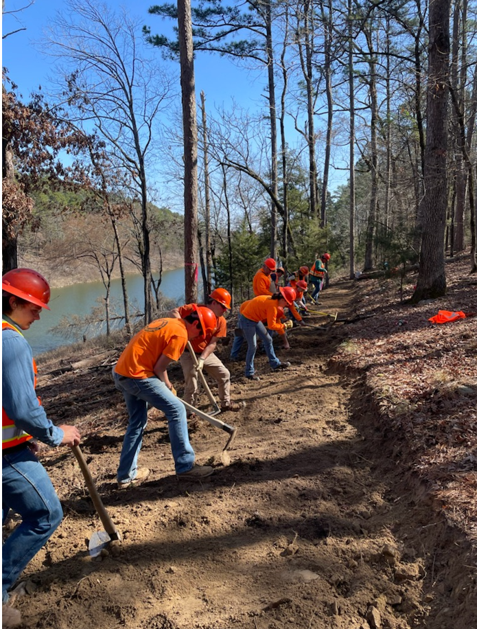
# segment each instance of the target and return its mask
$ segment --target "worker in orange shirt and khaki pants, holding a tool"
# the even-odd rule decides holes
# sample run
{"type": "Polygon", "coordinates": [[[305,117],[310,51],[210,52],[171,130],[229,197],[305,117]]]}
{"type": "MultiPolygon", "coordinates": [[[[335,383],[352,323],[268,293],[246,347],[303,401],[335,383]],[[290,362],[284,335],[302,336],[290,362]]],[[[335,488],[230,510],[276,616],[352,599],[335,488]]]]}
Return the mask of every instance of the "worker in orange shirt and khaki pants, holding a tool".
{"type": "MultiPolygon", "coordinates": [[[[197,369],[205,369],[208,374],[216,380],[219,389],[220,410],[240,411],[243,408],[242,402],[232,402],[230,397],[230,371],[227,369],[214,353],[219,339],[227,335],[227,322],[224,313],[231,308],[231,294],[225,288],[216,288],[209,295],[210,308],[217,317],[217,327],[210,330],[207,336],[200,336],[191,341],[192,349],[198,358],[198,367],[194,365],[194,360],[190,352],[186,351],[181,356],[181,367],[185,378],[184,401],[196,407],[196,396],[198,393],[197,369]]],[[[185,304],[171,310],[170,317],[183,319],[194,310],[195,304],[185,304]]]]}

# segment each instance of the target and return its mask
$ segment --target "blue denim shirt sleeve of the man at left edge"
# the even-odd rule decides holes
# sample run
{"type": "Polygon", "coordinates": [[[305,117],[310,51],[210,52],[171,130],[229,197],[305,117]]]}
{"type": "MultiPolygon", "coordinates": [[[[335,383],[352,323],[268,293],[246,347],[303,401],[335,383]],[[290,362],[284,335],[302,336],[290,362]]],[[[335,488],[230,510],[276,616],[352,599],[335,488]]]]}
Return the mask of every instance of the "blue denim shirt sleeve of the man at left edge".
{"type": "MultiPolygon", "coordinates": [[[[10,317],[3,319],[15,325],[10,317]]],[[[18,326],[16,326],[18,329],[18,326]]],[[[59,446],[63,431],[47,418],[34,389],[32,348],[14,330],[1,334],[2,407],[17,428],[48,446],[59,446]]]]}

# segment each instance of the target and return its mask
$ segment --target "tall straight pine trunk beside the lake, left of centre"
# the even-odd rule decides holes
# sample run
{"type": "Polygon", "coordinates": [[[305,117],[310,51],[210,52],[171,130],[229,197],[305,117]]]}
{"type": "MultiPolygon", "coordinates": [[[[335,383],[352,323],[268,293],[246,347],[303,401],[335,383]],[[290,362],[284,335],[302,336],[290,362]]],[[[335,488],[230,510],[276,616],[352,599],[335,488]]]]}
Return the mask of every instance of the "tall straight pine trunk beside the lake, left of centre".
{"type": "Polygon", "coordinates": [[[185,300],[189,304],[197,301],[196,275],[198,273],[197,113],[190,0],[178,0],[177,22],[184,133],[185,300]]]}

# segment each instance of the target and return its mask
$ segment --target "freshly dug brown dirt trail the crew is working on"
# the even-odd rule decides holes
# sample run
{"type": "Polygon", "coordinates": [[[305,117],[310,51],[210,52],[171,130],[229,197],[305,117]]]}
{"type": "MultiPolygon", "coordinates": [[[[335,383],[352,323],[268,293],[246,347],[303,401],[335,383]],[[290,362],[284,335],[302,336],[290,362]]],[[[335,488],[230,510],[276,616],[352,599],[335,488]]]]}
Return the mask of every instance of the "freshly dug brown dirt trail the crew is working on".
{"type": "MultiPolygon", "coordinates": [[[[345,317],[351,295],[347,282],[331,287],[321,309],[345,317]]],[[[111,361],[63,375],[40,366],[51,416],[83,427],[124,543],[119,556],[89,558],[84,538],[102,527],[71,454],[47,450],[66,517],[25,573],[37,586],[17,602],[25,628],[477,627],[465,540],[412,484],[399,442],[384,441],[362,380],[328,366],[347,326],[307,321],[324,327],[292,331],[291,350],[278,351],[292,363],[287,371],[272,373],[259,356],[260,382],[245,380],[244,363],[220,347],[233,399],[247,405],[222,416],[238,428],[229,466],[220,464],[226,433],[205,422],[191,431],[198,461],[217,466],[202,485],[176,481],[165,422],[153,411],[140,455],[150,479],[119,492],[126,413],[111,361]]],[[[181,395],[179,367],[171,380],[181,395]]]]}

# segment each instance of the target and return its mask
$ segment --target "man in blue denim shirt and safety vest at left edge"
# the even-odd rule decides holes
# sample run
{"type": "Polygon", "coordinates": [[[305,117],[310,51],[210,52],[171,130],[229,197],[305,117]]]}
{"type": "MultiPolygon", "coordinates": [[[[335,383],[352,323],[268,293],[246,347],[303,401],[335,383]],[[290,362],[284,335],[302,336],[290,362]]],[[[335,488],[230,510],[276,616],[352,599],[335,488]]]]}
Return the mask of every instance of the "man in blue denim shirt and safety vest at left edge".
{"type": "Polygon", "coordinates": [[[9,592],[60,525],[63,512],[47,471],[36,458],[34,439],[48,446],[78,446],[78,428],[55,426],[36,396],[36,363],[23,336],[47,306],[50,290],[32,268],[15,268],[2,288],[2,523],[10,509],[22,517],[2,549],[2,627],[21,624],[9,592]]]}

